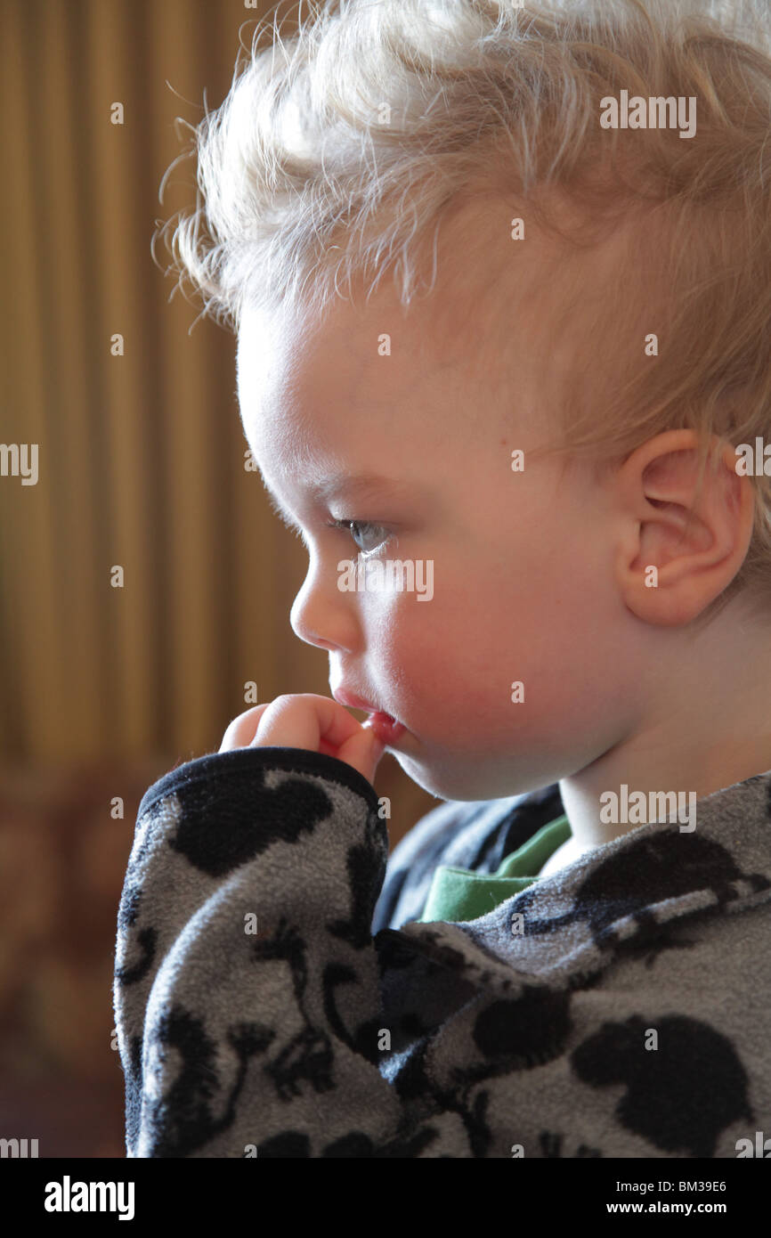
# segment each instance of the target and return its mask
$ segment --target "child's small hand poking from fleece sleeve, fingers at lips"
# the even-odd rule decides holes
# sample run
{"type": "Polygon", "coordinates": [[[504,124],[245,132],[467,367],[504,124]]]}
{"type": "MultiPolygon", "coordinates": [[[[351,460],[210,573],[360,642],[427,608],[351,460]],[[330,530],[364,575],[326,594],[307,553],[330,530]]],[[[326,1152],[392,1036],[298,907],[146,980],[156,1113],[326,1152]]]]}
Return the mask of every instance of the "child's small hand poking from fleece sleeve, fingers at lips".
{"type": "Polygon", "coordinates": [[[234,748],[304,748],[353,765],[368,782],[385,751],[369,719],[358,723],[337,701],[311,692],[280,696],[240,713],[228,727],[219,750],[229,753],[234,748]]]}

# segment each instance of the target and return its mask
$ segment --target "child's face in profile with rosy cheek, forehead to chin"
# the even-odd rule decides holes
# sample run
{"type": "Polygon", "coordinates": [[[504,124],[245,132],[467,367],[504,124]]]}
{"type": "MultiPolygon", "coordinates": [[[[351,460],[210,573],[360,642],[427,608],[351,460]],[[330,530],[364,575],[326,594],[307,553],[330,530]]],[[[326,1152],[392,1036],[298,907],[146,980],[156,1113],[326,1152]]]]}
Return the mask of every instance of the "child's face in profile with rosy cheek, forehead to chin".
{"type": "MultiPolygon", "coordinates": [[[[523,272],[535,258],[517,261],[523,272]]],[[[248,310],[239,401],[264,479],[304,532],[291,623],[328,651],[330,688],[403,723],[391,750],[426,790],[495,799],[583,769],[632,728],[646,625],[614,587],[611,490],[528,458],[551,411],[528,339],[548,324],[509,300],[511,328],[491,347],[459,303],[449,347],[446,324],[437,333],[442,293],[438,281],[405,318],[384,285],[364,308],[337,302],[321,327],[248,310]],[[386,333],[391,352],[380,355],[386,333]],[[515,448],[523,472],[511,469],[515,448]],[[377,473],[391,490],[314,503],[308,487],[335,473],[343,483],[377,473]],[[356,546],[325,527],[333,519],[382,529],[359,530],[356,546]],[[433,598],[342,592],[338,563],[361,550],[433,561],[433,598]]],[[[554,355],[564,355],[557,342],[554,355]]]]}

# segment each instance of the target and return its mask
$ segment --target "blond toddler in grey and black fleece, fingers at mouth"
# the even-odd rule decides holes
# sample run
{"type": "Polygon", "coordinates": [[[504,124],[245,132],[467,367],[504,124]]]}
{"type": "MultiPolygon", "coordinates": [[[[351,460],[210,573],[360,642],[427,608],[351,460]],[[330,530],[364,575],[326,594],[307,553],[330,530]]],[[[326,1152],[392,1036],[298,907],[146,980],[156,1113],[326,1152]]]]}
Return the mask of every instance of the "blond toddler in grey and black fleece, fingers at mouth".
{"type": "Polygon", "coordinates": [[[767,17],[368,0],[266,33],[173,251],[238,334],[332,696],[142,800],[127,1154],[762,1155],[767,17]],[[386,749],[444,801],[390,858],[386,749]]]}

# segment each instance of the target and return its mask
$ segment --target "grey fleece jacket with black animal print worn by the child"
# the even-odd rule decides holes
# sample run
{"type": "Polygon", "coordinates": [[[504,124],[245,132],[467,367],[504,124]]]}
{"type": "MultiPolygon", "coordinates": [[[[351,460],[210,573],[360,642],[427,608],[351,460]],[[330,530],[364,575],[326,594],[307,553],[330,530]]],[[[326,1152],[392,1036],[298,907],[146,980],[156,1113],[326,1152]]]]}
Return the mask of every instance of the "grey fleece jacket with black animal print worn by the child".
{"type": "Polygon", "coordinates": [[[249,748],[140,805],[114,1003],[130,1158],[735,1158],[771,1134],[771,773],[485,915],[558,787],[443,803],[387,863],[373,786],[249,748]],[[387,870],[386,870],[387,863],[387,870]]]}

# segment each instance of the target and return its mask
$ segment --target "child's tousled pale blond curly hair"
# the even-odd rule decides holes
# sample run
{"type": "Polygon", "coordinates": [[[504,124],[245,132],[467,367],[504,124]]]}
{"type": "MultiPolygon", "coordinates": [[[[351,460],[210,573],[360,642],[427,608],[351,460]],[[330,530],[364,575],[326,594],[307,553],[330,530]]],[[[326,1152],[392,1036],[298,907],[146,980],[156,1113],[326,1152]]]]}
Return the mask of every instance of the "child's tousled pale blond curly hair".
{"type": "MultiPolygon", "coordinates": [[[[197,207],[162,235],[203,313],[236,331],[250,302],[323,314],[354,281],[369,300],[387,271],[408,306],[433,287],[442,220],[497,194],[575,253],[630,229],[618,288],[577,281],[561,306],[559,322],[587,319],[590,347],[547,451],[605,468],[691,428],[702,484],[715,437],[771,442],[765,0],[298,7],[288,36],[277,10],[259,22],[226,99],[192,130],[197,207]],[[624,89],[696,98],[696,135],[600,125],[601,100],[624,89]]],[[[769,610],[771,477],[751,484],[752,541],[710,614],[739,591],[769,610]]]]}

